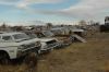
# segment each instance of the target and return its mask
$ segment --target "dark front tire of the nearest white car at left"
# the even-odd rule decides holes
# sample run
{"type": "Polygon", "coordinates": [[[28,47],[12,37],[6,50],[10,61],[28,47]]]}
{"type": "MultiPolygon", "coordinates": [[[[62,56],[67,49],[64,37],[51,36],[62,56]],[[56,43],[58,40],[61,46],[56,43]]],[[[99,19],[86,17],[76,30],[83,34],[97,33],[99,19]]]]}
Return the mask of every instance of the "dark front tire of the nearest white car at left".
{"type": "Polygon", "coordinates": [[[10,63],[10,58],[5,52],[0,52],[0,64],[9,64],[10,63]]]}

